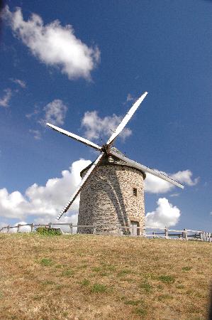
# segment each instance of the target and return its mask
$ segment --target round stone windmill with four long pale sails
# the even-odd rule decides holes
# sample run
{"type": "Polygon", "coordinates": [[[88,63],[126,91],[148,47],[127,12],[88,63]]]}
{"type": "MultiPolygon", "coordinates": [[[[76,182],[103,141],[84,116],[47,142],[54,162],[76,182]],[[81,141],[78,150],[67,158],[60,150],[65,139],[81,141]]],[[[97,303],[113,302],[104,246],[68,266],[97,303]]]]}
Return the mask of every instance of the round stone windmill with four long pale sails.
{"type": "MultiPolygon", "coordinates": [[[[81,192],[78,225],[95,223],[102,231],[109,224],[112,233],[116,233],[123,225],[142,227],[145,223],[143,180],[146,173],[162,178],[179,188],[184,188],[181,183],[174,181],[169,176],[128,159],[121,151],[112,146],[146,95],[147,92],[144,92],[133,104],[108,142],[103,146],[47,123],[55,131],[100,152],[96,160],[81,172],[82,181],[68,203],[57,215],[57,220],[69,210],[81,192]]],[[[81,228],[79,231],[91,233],[88,228],[81,228]]]]}

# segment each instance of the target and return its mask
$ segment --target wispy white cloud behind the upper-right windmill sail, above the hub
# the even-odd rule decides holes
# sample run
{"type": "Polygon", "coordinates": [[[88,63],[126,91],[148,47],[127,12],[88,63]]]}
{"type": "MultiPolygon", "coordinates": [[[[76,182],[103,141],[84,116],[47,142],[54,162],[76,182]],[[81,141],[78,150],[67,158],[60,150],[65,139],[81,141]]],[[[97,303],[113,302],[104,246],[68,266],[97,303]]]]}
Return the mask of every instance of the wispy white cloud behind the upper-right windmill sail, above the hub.
{"type": "MultiPolygon", "coordinates": [[[[118,117],[116,114],[113,114],[111,117],[108,116],[101,118],[96,110],[91,112],[87,111],[82,119],[82,127],[85,129],[85,137],[87,137],[87,139],[108,138],[116,127],[118,127],[121,120],[122,117],[118,117]]],[[[120,137],[125,139],[131,134],[132,131],[125,128],[121,132],[120,137]]]]}

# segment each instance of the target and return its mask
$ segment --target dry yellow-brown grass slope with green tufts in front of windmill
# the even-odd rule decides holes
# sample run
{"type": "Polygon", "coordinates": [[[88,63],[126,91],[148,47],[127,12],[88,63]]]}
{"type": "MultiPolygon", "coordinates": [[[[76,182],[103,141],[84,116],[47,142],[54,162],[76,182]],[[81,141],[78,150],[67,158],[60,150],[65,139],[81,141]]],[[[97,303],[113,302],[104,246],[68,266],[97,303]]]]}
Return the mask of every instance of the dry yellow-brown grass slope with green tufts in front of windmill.
{"type": "Polygon", "coordinates": [[[207,242],[0,234],[0,319],[207,319],[207,242]]]}

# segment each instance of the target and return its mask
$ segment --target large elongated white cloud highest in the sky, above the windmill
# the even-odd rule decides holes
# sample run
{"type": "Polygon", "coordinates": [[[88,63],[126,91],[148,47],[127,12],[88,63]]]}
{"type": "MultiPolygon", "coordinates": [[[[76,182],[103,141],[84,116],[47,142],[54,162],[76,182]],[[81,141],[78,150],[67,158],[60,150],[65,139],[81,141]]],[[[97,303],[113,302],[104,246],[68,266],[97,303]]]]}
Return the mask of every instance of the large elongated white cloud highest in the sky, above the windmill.
{"type": "Polygon", "coordinates": [[[69,79],[90,79],[91,70],[99,62],[99,48],[88,47],[74,36],[71,25],[61,26],[58,20],[44,25],[37,14],[24,21],[21,8],[11,12],[9,6],[5,7],[3,15],[16,36],[40,61],[57,66],[69,79]]]}

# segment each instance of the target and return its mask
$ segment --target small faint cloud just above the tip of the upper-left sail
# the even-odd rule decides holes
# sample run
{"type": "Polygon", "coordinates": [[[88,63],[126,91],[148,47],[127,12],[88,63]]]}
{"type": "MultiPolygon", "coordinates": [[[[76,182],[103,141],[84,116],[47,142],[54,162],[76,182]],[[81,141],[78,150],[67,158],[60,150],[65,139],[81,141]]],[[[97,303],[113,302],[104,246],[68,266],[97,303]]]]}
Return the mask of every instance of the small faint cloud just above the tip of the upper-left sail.
{"type": "Polygon", "coordinates": [[[62,102],[62,100],[53,100],[43,108],[43,111],[45,112],[45,116],[43,119],[39,120],[39,123],[43,124],[43,126],[45,126],[47,122],[55,125],[64,124],[67,106],[62,102]]]}

